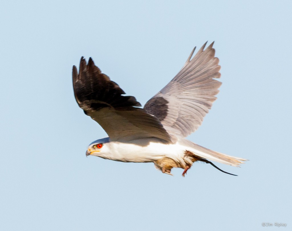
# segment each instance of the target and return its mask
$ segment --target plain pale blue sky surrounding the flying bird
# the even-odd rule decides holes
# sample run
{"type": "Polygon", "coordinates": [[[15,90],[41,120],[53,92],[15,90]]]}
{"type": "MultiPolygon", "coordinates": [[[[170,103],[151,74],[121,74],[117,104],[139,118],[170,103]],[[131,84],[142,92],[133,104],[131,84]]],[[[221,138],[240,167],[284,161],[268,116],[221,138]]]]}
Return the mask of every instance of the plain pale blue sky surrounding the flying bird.
{"type": "Polygon", "coordinates": [[[290,229],[291,10],[291,1],[1,1],[0,229],[290,229]],[[223,84],[188,139],[249,159],[218,164],[238,177],[203,163],[183,178],[86,158],[106,133],[74,99],[81,56],[144,104],[207,40],[223,84]]]}

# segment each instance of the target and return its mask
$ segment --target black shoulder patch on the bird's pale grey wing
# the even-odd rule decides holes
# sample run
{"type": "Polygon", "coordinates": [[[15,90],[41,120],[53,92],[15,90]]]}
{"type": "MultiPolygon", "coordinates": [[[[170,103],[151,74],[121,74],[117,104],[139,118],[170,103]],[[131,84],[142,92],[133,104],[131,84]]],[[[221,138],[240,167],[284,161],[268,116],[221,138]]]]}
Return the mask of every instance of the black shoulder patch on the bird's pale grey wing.
{"type": "Polygon", "coordinates": [[[163,97],[151,98],[145,104],[144,109],[162,121],[167,116],[167,103],[168,101],[163,97]]]}

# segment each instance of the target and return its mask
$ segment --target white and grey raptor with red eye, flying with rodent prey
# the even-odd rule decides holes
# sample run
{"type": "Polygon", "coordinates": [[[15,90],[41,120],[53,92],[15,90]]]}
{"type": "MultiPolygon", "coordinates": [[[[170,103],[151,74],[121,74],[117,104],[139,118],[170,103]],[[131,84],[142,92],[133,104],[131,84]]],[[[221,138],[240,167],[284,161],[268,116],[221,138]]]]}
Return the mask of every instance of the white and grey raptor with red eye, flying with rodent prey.
{"type": "MultiPolygon", "coordinates": [[[[213,42],[214,43],[214,42],[213,42]]],[[[196,131],[216,100],[221,82],[219,59],[211,43],[206,43],[155,96],[140,108],[133,96],[81,57],[79,73],[73,66],[76,101],[84,113],[98,122],[109,137],[92,142],[86,156],[122,162],[153,162],[166,174],[182,168],[183,176],[196,161],[239,166],[246,159],[228,156],[195,144],[185,137],[196,131]]],[[[225,172],[228,173],[228,172],[225,172]]],[[[231,174],[231,173],[228,173],[231,174]]],[[[233,175],[233,174],[231,174],[233,175]]]]}

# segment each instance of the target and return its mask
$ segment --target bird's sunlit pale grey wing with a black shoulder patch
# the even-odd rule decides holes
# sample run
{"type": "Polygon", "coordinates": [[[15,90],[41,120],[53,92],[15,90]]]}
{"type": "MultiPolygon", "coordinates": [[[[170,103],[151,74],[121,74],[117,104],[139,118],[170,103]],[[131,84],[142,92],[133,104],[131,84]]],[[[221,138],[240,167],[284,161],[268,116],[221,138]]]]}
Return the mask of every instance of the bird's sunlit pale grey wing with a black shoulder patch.
{"type": "Polygon", "coordinates": [[[213,79],[220,78],[213,43],[204,50],[205,43],[191,60],[195,47],[180,72],[144,106],[170,134],[196,131],[216,100],[221,82],[213,79]]]}

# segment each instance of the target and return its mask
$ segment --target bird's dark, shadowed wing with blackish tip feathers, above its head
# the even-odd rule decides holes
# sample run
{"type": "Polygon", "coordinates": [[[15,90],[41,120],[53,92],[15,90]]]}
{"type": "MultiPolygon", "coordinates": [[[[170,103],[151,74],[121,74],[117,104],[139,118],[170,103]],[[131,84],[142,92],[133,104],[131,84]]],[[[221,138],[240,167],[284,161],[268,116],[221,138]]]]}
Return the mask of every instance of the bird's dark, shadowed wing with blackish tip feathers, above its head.
{"type": "Polygon", "coordinates": [[[168,142],[170,135],[155,116],[148,114],[133,96],[101,73],[90,58],[82,57],[79,74],[73,66],[73,88],[76,101],[86,115],[102,126],[111,141],[124,141],[156,137],[168,142]]]}

